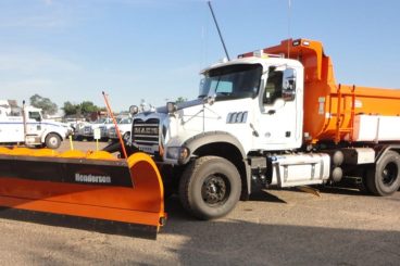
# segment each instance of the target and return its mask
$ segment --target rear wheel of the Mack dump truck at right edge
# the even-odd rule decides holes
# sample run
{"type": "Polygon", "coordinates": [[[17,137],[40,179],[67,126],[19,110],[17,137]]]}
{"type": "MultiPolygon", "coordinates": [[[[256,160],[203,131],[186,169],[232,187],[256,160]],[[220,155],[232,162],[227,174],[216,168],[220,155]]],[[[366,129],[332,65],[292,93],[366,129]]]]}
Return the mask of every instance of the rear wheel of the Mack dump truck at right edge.
{"type": "Polygon", "coordinates": [[[390,195],[400,187],[400,155],[388,151],[366,175],[366,187],[376,195],[390,195]]]}

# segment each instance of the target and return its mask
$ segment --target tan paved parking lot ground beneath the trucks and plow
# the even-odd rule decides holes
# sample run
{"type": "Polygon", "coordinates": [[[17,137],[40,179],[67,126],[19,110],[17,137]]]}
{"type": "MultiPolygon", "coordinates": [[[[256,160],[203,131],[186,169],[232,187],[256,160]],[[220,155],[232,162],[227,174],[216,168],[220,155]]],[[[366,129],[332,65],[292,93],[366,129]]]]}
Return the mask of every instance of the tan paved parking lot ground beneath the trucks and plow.
{"type": "MultiPolygon", "coordinates": [[[[95,142],[74,142],[96,150],[95,142]]],[[[105,145],[100,143],[100,148],[105,145]]],[[[61,150],[68,149],[64,142],[61,150]]],[[[177,198],[158,240],[0,219],[2,265],[399,265],[400,191],[377,198],[260,191],[228,216],[199,221],[177,198]]]]}

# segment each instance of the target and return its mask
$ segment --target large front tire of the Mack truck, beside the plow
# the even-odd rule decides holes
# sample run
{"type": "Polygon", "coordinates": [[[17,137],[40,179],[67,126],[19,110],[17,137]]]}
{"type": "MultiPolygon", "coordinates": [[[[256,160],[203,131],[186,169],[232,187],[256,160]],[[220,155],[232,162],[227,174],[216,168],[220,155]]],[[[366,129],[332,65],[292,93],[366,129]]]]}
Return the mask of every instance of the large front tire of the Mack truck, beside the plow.
{"type": "Polygon", "coordinates": [[[191,162],[179,180],[180,202],[199,219],[214,219],[228,214],[239,201],[240,175],[229,161],[203,156],[191,162]]]}

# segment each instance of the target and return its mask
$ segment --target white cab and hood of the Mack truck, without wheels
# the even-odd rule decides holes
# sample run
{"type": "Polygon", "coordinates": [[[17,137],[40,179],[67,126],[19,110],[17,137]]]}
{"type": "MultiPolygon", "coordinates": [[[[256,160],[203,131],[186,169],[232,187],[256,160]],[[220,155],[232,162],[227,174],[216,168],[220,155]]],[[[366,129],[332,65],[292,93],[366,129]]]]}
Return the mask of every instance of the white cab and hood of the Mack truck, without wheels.
{"type": "Polygon", "coordinates": [[[182,149],[199,139],[235,142],[243,154],[302,144],[303,67],[298,61],[246,58],[202,74],[197,100],[134,117],[134,145],[151,154],[162,150],[163,162],[178,165],[196,147],[187,147],[185,159],[182,149]],[[283,84],[285,91],[278,89],[283,84]]]}

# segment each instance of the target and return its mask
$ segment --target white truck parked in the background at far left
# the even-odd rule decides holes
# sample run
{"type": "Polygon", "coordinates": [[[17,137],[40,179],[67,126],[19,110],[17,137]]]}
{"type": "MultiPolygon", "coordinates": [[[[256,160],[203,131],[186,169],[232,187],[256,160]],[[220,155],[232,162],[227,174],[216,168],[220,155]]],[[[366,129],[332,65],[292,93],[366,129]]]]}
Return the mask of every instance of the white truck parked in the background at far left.
{"type": "Polygon", "coordinates": [[[33,106],[26,106],[18,113],[0,112],[0,143],[57,149],[72,131],[66,124],[43,119],[41,110],[33,106]]]}

